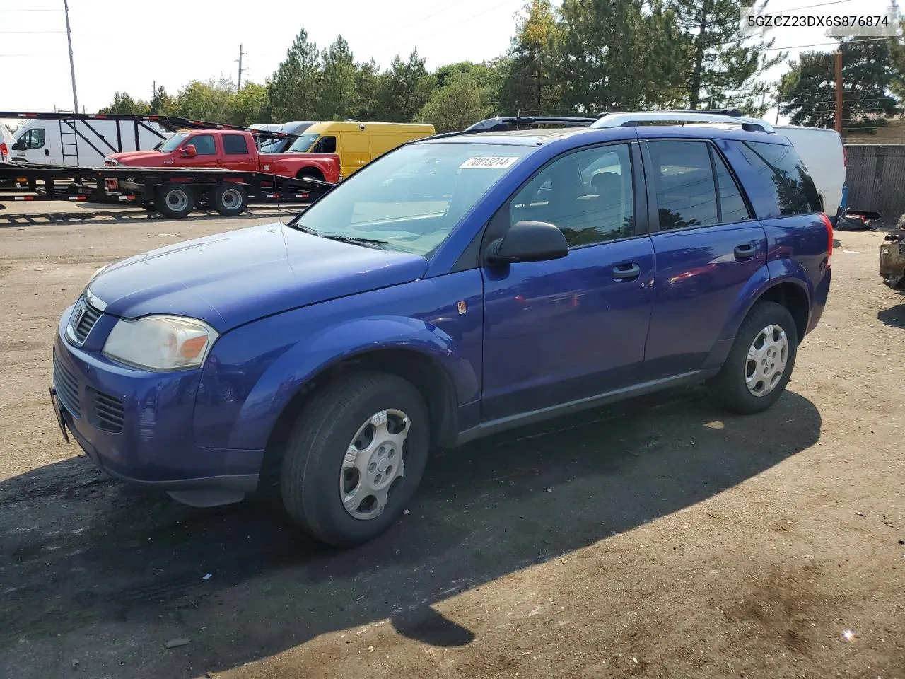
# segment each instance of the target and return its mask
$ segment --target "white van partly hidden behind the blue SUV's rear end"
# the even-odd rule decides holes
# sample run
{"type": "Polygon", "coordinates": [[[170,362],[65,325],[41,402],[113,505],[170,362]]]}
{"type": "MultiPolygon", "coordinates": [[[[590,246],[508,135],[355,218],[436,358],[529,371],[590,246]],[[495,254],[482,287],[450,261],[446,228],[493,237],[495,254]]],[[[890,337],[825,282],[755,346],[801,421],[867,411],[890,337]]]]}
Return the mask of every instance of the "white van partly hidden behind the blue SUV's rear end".
{"type": "Polygon", "coordinates": [[[774,125],[773,129],[792,142],[814,179],[824,213],[834,218],[839,206],[843,205],[845,186],[846,158],[842,137],[834,129],[797,125],[774,125]]]}

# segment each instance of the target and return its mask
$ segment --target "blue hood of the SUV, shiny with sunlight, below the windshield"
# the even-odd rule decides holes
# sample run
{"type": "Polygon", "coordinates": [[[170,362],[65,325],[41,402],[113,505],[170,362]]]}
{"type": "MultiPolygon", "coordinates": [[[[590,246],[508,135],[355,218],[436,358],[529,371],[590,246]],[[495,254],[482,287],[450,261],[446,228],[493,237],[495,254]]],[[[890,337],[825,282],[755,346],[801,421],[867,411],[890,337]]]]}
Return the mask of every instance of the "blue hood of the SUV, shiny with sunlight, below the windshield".
{"type": "Polygon", "coordinates": [[[138,254],[89,283],[108,313],[169,313],[218,332],[280,311],[420,278],[416,254],[330,241],[283,225],[252,226],[138,254]]]}

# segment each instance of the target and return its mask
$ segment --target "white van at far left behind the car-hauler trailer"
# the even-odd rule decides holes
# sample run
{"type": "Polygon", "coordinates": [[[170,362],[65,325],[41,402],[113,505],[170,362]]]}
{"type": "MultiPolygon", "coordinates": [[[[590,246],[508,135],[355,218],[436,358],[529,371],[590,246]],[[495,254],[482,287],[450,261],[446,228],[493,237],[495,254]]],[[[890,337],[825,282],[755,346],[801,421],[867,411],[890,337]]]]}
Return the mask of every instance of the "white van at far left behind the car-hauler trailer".
{"type": "Polygon", "coordinates": [[[13,161],[103,167],[111,153],[155,148],[171,135],[149,121],[32,120],[15,131],[13,161]]]}

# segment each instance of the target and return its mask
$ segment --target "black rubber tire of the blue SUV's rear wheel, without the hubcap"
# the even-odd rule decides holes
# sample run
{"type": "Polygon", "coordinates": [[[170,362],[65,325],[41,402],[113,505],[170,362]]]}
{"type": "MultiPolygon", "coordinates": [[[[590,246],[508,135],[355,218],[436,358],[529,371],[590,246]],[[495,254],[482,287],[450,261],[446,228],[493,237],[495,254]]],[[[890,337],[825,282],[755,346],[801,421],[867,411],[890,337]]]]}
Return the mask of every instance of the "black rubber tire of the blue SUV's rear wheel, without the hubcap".
{"type": "Polygon", "coordinates": [[[762,413],[783,395],[798,349],[798,330],[795,319],[782,304],[775,301],[758,301],[748,311],[748,316],[738,328],[736,339],[729,349],[729,356],[717,376],[708,383],[710,399],[714,405],[740,415],[762,413]],[[767,326],[778,326],[786,335],[786,368],[776,385],[763,396],[757,396],[748,389],[746,375],[749,369],[748,349],[751,348],[761,330],[767,326]]]}

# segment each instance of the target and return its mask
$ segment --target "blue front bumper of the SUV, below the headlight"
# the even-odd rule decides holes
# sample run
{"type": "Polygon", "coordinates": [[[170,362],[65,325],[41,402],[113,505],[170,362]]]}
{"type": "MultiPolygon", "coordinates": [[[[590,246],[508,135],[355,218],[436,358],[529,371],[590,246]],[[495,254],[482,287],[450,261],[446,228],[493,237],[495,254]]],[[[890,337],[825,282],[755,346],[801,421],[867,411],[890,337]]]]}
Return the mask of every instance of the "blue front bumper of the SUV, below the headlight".
{"type": "Polygon", "coordinates": [[[100,469],[167,491],[254,491],[262,450],[195,445],[200,370],[155,373],[106,359],[100,348],[115,322],[109,316],[76,349],[64,339],[70,313],[53,342],[53,388],[63,425],[100,469]]]}

